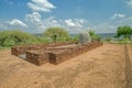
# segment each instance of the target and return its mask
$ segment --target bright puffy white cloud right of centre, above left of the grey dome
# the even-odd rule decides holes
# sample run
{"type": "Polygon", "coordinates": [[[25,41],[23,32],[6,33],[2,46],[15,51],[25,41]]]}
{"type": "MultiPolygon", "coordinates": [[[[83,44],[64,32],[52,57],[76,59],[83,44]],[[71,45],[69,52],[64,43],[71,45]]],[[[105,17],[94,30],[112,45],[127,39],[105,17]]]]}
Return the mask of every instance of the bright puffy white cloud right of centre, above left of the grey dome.
{"type": "Polygon", "coordinates": [[[68,20],[65,20],[65,23],[67,26],[78,26],[78,28],[82,28],[84,23],[86,21],[84,19],[68,19],[68,20]]]}

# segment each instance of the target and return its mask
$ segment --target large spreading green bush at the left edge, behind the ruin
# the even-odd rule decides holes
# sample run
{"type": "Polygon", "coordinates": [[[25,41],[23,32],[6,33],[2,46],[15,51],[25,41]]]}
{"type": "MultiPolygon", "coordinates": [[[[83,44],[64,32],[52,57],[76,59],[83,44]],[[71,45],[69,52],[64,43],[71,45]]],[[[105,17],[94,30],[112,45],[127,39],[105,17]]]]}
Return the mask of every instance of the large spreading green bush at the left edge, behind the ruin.
{"type": "Polygon", "coordinates": [[[0,32],[0,46],[33,44],[36,42],[37,40],[33,35],[22,32],[20,30],[0,32]]]}

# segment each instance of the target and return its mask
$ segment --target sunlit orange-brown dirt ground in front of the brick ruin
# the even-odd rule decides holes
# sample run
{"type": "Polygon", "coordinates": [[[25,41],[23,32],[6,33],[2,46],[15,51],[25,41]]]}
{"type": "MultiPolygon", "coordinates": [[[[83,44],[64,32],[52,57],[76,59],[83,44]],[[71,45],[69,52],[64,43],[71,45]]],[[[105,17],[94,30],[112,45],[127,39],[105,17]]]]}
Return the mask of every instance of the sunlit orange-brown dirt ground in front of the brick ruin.
{"type": "Polygon", "coordinates": [[[103,44],[59,65],[35,66],[10,50],[0,52],[0,88],[124,88],[124,45],[119,44],[103,44]]]}

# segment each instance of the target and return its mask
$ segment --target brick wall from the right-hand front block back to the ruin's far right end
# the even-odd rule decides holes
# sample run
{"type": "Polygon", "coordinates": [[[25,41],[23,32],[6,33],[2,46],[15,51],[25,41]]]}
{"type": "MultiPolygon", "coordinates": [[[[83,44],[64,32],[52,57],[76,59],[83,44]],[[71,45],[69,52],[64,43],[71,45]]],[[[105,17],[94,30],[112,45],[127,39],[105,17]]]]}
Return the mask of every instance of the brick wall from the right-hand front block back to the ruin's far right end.
{"type": "Polygon", "coordinates": [[[61,64],[67,59],[70,59],[75,56],[78,56],[85,52],[88,52],[90,50],[94,50],[98,46],[101,46],[102,43],[90,43],[90,44],[87,44],[87,45],[79,45],[79,46],[76,46],[76,47],[70,47],[70,48],[62,48],[62,51],[59,50],[56,50],[56,52],[51,52],[50,53],[50,63],[52,64],[61,64]]]}

